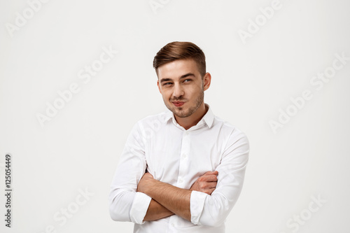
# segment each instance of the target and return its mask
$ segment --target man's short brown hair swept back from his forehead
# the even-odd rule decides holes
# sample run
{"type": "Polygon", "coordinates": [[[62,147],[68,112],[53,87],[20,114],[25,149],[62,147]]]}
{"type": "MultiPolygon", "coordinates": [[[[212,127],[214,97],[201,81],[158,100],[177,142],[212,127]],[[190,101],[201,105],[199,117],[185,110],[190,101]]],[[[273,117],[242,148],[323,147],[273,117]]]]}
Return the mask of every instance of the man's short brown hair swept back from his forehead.
{"type": "Polygon", "coordinates": [[[174,41],[161,48],[153,59],[153,68],[158,73],[158,67],[179,59],[193,59],[202,78],[206,73],[204,52],[191,42],[174,41]]]}

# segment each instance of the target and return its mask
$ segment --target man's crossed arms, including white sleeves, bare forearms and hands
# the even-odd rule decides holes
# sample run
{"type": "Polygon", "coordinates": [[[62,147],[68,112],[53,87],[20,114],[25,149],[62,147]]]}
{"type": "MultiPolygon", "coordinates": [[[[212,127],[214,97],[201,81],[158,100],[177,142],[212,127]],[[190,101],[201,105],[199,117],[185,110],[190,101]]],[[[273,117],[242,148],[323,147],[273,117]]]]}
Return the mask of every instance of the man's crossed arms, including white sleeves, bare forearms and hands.
{"type": "Polygon", "coordinates": [[[144,174],[147,168],[144,145],[140,144],[137,127],[134,130],[113,176],[109,195],[111,218],[142,224],[176,214],[194,225],[221,225],[235,205],[244,182],[249,151],[246,136],[232,132],[216,167],[218,181],[206,181],[204,174],[190,190],[184,190],[144,174]],[[130,171],[130,168],[134,169],[130,171]],[[211,190],[207,186],[206,191],[203,185],[206,182],[215,185],[211,190]]]}

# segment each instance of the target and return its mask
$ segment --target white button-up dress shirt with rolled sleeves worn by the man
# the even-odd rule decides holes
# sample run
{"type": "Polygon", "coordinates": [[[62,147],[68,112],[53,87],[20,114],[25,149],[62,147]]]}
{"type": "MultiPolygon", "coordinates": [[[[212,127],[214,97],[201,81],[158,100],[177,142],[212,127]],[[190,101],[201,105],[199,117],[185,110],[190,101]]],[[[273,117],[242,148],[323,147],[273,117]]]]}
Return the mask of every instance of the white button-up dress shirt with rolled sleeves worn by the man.
{"type": "Polygon", "coordinates": [[[243,132],[206,106],[200,122],[187,130],[171,111],[134,125],[111,184],[113,220],[135,223],[134,232],[225,232],[225,218],[243,185],[249,145],[243,132]],[[207,171],[218,171],[218,183],[211,195],[191,193],[191,221],[173,215],[144,222],[151,197],[136,190],[146,169],[156,180],[183,189],[190,189],[207,171]]]}

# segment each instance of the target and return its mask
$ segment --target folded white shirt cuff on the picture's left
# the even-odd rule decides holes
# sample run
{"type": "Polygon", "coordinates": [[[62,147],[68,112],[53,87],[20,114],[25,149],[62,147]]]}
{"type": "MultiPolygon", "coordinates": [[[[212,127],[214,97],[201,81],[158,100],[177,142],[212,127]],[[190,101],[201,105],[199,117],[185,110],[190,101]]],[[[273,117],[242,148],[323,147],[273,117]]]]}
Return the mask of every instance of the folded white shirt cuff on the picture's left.
{"type": "Polygon", "coordinates": [[[132,202],[132,208],[130,209],[130,220],[132,223],[144,224],[144,218],[146,216],[148,206],[151,203],[151,197],[143,192],[136,192],[134,201],[132,202]]]}

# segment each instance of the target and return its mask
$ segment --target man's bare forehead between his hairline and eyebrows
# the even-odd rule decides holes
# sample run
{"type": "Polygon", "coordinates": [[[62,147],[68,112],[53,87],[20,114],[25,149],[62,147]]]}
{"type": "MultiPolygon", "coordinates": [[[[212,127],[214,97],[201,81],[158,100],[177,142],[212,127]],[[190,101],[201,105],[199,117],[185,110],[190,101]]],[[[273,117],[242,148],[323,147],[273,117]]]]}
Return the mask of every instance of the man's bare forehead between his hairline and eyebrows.
{"type": "Polygon", "coordinates": [[[198,67],[193,59],[179,59],[158,67],[158,78],[179,78],[186,73],[199,75],[198,67]]]}

